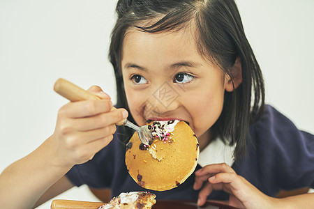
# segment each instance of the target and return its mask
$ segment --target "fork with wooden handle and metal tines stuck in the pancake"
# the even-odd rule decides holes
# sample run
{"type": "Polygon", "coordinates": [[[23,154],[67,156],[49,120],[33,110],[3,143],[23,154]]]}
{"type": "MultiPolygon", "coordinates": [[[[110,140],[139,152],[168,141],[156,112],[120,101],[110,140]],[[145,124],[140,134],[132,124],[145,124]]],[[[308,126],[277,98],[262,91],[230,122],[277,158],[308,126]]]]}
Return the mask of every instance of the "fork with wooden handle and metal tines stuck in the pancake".
{"type": "MultiPolygon", "coordinates": [[[[82,100],[101,100],[97,95],[94,95],[89,91],[85,91],[83,88],[80,88],[80,86],[77,86],[62,78],[58,79],[57,82],[54,83],[54,91],[71,102],[82,100]]],[[[112,110],[114,109],[116,108],[112,107],[112,110]]],[[[128,118],[117,122],[116,125],[128,126],[135,130],[140,137],[142,144],[149,145],[149,141],[153,139],[153,134],[149,129],[149,125],[137,126],[134,123],[128,121],[128,118]]]]}

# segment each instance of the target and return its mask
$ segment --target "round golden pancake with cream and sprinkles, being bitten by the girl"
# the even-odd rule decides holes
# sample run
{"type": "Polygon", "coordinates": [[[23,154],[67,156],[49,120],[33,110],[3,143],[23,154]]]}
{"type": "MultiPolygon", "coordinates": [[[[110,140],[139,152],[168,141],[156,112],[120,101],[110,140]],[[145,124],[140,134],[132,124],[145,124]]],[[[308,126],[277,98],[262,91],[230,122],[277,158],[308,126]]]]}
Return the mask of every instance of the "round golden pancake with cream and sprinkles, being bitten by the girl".
{"type": "Polygon", "coordinates": [[[193,173],[200,153],[197,138],[184,121],[150,123],[154,139],[141,143],[137,132],[126,145],[126,167],[145,189],[165,191],[178,187],[193,173]]]}

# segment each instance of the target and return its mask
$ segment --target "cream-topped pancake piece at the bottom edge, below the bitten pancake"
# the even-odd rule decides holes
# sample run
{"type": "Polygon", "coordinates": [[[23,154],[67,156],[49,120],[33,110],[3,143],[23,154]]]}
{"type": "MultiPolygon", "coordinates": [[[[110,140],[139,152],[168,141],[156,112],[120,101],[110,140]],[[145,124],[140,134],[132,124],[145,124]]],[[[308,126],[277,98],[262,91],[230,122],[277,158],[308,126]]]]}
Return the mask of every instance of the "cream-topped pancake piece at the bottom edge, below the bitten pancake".
{"type": "Polygon", "coordinates": [[[156,203],[156,194],[149,192],[122,192],[98,209],[151,209],[156,203]]]}

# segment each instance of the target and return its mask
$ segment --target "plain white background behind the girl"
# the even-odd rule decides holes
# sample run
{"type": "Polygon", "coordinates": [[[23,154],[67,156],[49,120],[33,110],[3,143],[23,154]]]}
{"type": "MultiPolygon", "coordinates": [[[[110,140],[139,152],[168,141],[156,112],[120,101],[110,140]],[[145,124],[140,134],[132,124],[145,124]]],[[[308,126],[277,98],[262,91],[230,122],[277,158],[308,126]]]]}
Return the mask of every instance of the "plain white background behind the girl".
{"type": "MultiPolygon", "coordinates": [[[[264,72],[267,103],[314,133],[314,1],[237,3],[264,72]]],[[[53,91],[59,77],[83,88],[101,86],[116,101],[107,59],[115,4],[0,0],[0,171],[54,131],[57,111],[67,102],[53,91]]],[[[58,198],[97,201],[84,186],[58,198]]]]}

